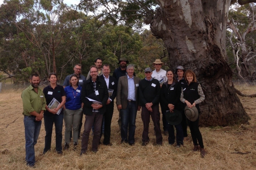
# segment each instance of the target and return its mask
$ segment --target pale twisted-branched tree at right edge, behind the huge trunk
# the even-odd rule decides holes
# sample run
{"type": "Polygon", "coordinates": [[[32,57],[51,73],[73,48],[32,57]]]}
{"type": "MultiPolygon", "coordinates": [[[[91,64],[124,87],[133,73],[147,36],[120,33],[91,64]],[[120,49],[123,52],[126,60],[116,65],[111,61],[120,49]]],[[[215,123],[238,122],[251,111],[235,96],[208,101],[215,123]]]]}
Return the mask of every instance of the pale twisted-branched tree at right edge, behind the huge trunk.
{"type": "Polygon", "coordinates": [[[242,80],[255,80],[256,73],[256,8],[254,3],[229,10],[227,26],[227,49],[231,51],[235,74],[242,80]]]}

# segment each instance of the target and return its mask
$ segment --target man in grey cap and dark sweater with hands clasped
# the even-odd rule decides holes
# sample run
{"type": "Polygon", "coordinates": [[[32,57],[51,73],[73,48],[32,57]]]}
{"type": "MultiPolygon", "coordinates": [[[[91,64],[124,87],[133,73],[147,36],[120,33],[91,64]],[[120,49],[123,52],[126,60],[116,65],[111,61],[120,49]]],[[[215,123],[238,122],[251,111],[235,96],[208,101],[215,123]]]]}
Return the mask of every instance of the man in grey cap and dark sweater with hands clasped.
{"type": "Polygon", "coordinates": [[[142,146],[149,142],[148,128],[150,116],[156,132],[156,143],[162,145],[163,137],[160,128],[159,99],[160,83],[157,79],[152,78],[150,67],[145,68],[145,79],[139,83],[139,100],[141,105],[141,119],[143,121],[142,146]]]}

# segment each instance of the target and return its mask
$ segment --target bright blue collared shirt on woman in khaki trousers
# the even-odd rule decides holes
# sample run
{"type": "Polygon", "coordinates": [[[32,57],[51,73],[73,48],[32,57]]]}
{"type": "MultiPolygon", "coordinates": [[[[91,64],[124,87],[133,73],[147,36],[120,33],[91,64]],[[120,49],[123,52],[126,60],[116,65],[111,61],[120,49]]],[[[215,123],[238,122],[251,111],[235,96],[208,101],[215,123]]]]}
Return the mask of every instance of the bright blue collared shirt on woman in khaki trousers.
{"type": "Polygon", "coordinates": [[[66,103],[65,107],[69,110],[77,110],[81,108],[81,90],[82,87],[78,85],[75,90],[71,85],[64,88],[66,92],[66,103]]]}

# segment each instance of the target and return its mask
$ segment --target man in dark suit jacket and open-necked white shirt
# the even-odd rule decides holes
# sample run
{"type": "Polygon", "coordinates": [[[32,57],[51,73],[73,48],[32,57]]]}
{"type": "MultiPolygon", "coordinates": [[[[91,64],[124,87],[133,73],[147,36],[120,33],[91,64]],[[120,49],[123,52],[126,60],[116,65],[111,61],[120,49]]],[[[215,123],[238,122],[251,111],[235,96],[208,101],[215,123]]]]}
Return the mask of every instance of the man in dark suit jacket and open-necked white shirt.
{"type": "MultiPolygon", "coordinates": [[[[104,113],[103,119],[104,123],[104,145],[112,145],[110,143],[110,133],[111,133],[111,120],[114,112],[114,99],[116,98],[116,90],[117,90],[117,82],[114,77],[109,75],[110,66],[109,64],[104,64],[102,67],[103,74],[99,76],[102,80],[104,80],[108,86],[109,91],[109,99],[106,103],[106,112],[104,113]]],[[[103,128],[103,127],[102,127],[103,128]]]]}

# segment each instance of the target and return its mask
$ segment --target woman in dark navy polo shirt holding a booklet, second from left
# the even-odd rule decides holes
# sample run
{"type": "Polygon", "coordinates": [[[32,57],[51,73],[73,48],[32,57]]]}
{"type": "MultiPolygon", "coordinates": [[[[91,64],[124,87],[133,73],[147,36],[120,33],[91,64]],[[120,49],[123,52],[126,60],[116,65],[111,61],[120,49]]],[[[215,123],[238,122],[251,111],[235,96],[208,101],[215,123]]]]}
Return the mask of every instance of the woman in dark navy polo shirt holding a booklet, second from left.
{"type": "Polygon", "coordinates": [[[49,74],[50,85],[43,89],[43,93],[46,99],[46,110],[44,112],[44,127],[45,127],[45,144],[43,153],[51,150],[52,142],[52,127],[55,125],[56,135],[56,152],[62,154],[62,126],[63,126],[63,105],[66,102],[66,93],[63,86],[57,85],[57,74],[49,74]],[[48,108],[48,105],[55,98],[60,104],[55,109],[48,108]],[[61,109],[61,110],[60,110],[61,109]],[[58,112],[60,110],[60,112],[58,112]]]}

